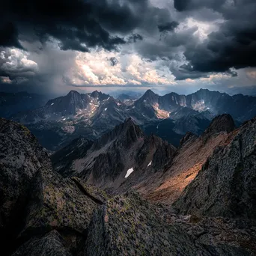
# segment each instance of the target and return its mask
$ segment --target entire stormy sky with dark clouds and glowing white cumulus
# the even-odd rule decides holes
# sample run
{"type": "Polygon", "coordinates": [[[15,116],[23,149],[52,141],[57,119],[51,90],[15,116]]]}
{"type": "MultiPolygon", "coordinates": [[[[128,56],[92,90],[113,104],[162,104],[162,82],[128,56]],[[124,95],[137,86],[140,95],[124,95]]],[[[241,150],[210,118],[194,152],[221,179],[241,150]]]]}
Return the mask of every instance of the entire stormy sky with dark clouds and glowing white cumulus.
{"type": "Polygon", "coordinates": [[[4,1],[0,91],[255,88],[255,0],[4,1]]]}

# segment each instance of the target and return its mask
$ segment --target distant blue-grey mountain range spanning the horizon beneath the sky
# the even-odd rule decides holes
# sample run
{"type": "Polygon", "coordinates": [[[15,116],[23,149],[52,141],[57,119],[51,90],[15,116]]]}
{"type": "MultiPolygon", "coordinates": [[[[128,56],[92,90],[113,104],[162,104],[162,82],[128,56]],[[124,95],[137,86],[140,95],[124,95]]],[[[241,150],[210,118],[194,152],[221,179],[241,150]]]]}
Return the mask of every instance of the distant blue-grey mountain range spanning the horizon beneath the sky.
{"type": "Polygon", "coordinates": [[[147,135],[153,133],[177,147],[187,131],[201,135],[210,121],[223,113],[229,113],[239,125],[256,115],[256,97],[230,96],[207,89],[187,96],[159,96],[147,90],[135,100],[124,94],[115,99],[99,91],[70,91],[45,106],[16,113],[11,119],[25,124],[48,150],[58,150],[80,135],[95,140],[127,118],[132,118],[147,135]]]}

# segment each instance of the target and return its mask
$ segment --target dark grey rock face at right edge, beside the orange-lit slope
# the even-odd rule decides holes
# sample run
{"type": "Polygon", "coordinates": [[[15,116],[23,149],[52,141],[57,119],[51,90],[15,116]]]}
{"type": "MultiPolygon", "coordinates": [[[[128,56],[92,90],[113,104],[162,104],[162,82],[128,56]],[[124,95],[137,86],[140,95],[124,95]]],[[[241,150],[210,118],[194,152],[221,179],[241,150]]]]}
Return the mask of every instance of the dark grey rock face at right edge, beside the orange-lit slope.
{"type": "Polygon", "coordinates": [[[231,132],[176,201],[180,213],[255,219],[256,119],[231,132]]]}

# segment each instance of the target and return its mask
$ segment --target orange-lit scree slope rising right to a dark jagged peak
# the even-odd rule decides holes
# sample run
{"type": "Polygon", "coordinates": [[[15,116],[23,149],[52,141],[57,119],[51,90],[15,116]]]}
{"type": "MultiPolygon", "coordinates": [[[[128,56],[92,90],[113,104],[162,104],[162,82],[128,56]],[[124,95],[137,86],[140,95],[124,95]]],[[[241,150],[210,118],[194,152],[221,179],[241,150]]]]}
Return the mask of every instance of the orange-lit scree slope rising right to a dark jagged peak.
{"type": "Polygon", "coordinates": [[[138,191],[150,201],[172,204],[194,180],[213,151],[231,140],[233,130],[234,121],[224,114],[216,117],[199,137],[187,132],[173,159],[165,166],[164,174],[156,174],[151,184],[145,180],[138,186],[138,191]]]}

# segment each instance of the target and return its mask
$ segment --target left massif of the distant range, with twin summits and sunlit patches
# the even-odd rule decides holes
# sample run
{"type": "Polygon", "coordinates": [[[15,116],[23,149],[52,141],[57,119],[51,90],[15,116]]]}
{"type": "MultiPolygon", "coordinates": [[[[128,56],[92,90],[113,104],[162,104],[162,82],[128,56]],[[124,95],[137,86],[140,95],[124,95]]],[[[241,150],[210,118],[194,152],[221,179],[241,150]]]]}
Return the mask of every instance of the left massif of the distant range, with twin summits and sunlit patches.
{"type": "Polygon", "coordinates": [[[49,100],[41,108],[20,112],[13,120],[25,124],[43,147],[56,150],[80,135],[95,139],[114,129],[129,117],[126,109],[124,103],[108,94],[70,91],[64,97],[49,100]]]}

